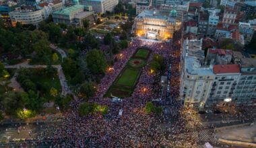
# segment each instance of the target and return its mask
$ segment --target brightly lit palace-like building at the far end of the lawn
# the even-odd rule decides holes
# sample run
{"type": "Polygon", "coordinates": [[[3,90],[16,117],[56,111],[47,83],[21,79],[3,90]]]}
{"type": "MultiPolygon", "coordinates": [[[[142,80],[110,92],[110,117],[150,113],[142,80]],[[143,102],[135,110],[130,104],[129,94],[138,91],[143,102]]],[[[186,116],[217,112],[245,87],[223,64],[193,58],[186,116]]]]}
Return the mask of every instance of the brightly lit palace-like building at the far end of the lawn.
{"type": "Polygon", "coordinates": [[[176,19],[177,11],[172,9],[170,15],[160,15],[156,10],[145,10],[135,17],[133,32],[140,37],[156,40],[172,38],[175,30],[181,28],[181,22],[176,19]]]}

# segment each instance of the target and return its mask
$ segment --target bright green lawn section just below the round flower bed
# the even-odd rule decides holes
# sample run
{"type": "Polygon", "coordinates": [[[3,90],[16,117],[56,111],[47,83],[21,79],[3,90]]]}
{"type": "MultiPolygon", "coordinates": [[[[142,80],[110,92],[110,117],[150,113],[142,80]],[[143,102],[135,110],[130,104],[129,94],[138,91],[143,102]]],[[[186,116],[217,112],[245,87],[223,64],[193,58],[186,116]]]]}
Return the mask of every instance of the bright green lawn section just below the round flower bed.
{"type": "Polygon", "coordinates": [[[135,85],[135,81],[137,79],[137,76],[139,75],[139,72],[139,69],[126,68],[117,80],[116,84],[133,87],[133,85],[135,85]]]}

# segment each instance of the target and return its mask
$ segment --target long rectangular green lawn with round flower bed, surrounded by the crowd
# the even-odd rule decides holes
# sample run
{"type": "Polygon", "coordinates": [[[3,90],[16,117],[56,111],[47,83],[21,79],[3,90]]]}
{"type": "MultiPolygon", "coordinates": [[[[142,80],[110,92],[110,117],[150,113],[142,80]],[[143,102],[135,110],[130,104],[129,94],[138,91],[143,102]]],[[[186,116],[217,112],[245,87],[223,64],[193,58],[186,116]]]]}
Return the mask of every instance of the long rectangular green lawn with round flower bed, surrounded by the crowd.
{"type": "Polygon", "coordinates": [[[119,98],[131,96],[133,89],[139,79],[141,70],[146,65],[150,50],[139,49],[129,59],[123,70],[113,84],[106,91],[105,97],[110,97],[110,94],[119,98]]]}

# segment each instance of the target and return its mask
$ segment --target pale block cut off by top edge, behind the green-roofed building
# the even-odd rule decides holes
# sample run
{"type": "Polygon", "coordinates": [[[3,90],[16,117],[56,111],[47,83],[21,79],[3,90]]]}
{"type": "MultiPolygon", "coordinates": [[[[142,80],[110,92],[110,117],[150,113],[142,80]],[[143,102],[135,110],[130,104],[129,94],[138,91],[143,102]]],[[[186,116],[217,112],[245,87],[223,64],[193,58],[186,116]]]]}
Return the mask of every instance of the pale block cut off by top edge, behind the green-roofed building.
{"type": "Polygon", "coordinates": [[[115,6],[119,3],[118,0],[81,0],[82,5],[91,5],[96,13],[106,13],[106,11],[113,11],[115,6]]]}

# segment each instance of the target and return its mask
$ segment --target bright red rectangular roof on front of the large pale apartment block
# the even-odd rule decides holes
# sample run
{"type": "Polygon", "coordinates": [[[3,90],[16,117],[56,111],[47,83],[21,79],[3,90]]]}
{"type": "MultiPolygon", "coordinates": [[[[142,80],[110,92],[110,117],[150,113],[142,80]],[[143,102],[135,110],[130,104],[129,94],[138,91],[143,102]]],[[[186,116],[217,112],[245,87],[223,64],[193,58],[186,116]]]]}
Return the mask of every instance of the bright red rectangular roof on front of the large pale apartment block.
{"type": "Polygon", "coordinates": [[[240,73],[239,65],[214,65],[214,74],[240,73]]]}

